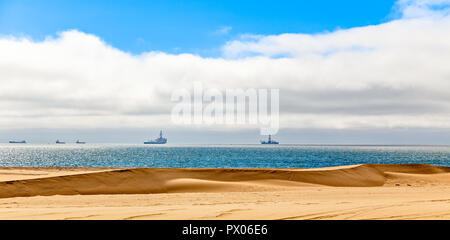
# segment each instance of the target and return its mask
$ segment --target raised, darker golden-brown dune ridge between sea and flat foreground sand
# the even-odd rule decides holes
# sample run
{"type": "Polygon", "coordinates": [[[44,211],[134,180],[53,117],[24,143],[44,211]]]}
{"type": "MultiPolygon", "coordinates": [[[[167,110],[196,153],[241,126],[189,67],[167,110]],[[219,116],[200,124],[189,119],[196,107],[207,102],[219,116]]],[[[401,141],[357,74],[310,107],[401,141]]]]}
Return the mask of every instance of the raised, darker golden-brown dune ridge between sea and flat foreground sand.
{"type": "Polygon", "coordinates": [[[409,178],[420,178],[422,175],[450,173],[450,167],[426,164],[364,164],[318,169],[127,168],[100,171],[92,168],[92,171],[3,181],[0,182],[0,198],[272,191],[304,186],[375,187],[386,185],[392,179],[405,178],[405,174],[409,178]]]}

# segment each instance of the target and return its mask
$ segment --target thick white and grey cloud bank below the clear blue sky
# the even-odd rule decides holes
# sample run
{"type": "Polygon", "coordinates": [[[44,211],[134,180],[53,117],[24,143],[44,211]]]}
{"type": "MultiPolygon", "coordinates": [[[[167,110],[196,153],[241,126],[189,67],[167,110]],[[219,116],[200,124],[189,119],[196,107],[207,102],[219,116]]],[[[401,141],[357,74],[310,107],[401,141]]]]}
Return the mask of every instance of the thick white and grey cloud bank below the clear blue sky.
{"type": "Polygon", "coordinates": [[[194,81],[279,88],[281,128],[450,128],[449,6],[400,0],[379,25],[243,35],[219,58],[132,55],[77,30],[0,37],[0,128],[167,127],[172,91],[194,81]]]}

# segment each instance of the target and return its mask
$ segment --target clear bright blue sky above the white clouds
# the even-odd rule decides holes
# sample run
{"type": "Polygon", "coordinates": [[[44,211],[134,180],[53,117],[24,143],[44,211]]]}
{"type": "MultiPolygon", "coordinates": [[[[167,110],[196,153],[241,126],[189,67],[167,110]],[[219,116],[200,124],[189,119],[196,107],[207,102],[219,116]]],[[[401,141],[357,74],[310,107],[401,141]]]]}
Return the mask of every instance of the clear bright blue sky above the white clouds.
{"type": "Polygon", "coordinates": [[[126,52],[216,56],[242,34],[318,33],[391,20],[393,0],[0,0],[0,35],[35,40],[68,29],[126,52]]]}

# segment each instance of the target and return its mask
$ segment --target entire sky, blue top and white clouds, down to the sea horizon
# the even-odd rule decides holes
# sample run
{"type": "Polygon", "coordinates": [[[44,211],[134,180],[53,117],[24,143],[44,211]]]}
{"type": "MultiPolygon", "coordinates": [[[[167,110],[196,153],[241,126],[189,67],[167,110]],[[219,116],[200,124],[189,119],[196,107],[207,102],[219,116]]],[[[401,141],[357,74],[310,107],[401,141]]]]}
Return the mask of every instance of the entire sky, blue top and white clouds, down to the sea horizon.
{"type": "Polygon", "coordinates": [[[280,90],[282,143],[450,144],[450,0],[0,0],[0,142],[257,143],[178,126],[193,82],[280,90]]]}

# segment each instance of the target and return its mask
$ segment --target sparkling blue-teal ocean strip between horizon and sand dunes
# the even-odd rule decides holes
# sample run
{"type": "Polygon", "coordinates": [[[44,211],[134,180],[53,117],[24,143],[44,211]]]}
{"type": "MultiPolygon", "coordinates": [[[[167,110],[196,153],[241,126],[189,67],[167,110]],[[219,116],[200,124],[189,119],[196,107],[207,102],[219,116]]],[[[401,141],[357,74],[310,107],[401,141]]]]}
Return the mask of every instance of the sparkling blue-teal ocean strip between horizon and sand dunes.
{"type": "Polygon", "coordinates": [[[317,168],[450,166],[450,146],[0,144],[1,167],[317,168]]]}

